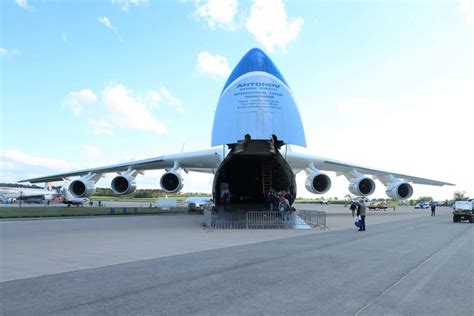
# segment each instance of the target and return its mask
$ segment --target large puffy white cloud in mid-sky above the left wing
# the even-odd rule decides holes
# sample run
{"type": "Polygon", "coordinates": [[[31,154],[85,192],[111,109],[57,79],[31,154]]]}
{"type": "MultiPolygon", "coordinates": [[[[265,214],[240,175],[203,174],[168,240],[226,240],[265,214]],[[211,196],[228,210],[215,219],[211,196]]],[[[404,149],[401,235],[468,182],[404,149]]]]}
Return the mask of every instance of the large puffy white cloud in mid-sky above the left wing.
{"type": "Polygon", "coordinates": [[[150,112],[163,103],[181,111],[181,101],[165,87],[148,91],[145,97],[135,96],[123,84],[111,83],[97,97],[90,89],[70,92],[63,101],[74,115],[88,117],[88,124],[96,135],[113,135],[117,128],[133,128],[165,133],[166,126],[150,112]],[[145,101],[143,101],[145,100],[145,101]]]}

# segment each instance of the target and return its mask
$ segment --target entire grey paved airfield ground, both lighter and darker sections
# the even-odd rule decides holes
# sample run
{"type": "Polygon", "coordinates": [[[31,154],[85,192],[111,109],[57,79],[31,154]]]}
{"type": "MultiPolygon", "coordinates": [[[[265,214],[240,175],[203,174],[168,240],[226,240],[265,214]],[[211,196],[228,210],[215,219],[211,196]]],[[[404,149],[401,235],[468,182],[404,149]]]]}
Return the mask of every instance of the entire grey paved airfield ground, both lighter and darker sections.
{"type": "Polygon", "coordinates": [[[342,206],[327,230],[209,230],[202,216],[0,222],[2,315],[473,315],[474,225],[342,206]]]}

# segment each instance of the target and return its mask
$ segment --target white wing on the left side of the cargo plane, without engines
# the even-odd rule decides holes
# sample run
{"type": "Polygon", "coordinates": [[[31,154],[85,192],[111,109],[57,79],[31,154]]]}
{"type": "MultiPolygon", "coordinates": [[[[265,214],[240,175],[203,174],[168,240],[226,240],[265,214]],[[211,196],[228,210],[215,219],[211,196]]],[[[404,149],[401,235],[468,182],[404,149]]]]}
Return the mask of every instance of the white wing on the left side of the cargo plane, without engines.
{"type": "Polygon", "coordinates": [[[196,171],[213,173],[222,161],[222,154],[219,150],[203,150],[195,152],[180,153],[174,155],[160,156],[144,160],[136,160],[131,162],[125,162],[110,166],[90,168],[84,170],[78,170],[73,172],[66,172],[55,174],[46,177],[25,179],[19,182],[54,182],[62,181],[68,177],[84,176],[87,174],[103,174],[112,172],[124,172],[127,170],[157,170],[157,169],[171,169],[179,167],[185,171],[196,171]]]}

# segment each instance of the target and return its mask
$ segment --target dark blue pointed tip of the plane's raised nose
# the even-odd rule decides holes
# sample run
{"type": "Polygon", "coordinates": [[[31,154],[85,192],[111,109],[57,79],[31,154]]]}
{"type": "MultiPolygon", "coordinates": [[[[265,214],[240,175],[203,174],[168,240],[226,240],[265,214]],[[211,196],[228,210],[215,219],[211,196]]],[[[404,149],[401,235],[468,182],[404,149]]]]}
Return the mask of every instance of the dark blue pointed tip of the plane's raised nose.
{"type": "Polygon", "coordinates": [[[234,82],[235,79],[252,71],[268,72],[269,74],[272,74],[273,76],[280,79],[288,87],[288,83],[286,82],[285,78],[283,78],[275,64],[273,64],[270,57],[268,57],[267,54],[265,54],[260,48],[252,48],[247,52],[247,54],[244,55],[244,57],[242,57],[237,66],[235,66],[234,70],[227,79],[222,92],[224,92],[224,90],[232,82],[234,82]]]}

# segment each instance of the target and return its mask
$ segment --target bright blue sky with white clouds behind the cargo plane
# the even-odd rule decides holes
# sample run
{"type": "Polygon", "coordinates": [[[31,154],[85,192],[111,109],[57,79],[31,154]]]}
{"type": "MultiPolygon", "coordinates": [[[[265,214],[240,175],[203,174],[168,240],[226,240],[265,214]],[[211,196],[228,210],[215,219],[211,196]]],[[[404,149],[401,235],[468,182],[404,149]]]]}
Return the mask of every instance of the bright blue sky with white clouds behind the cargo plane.
{"type": "MultiPolygon", "coordinates": [[[[0,181],[209,148],[220,91],[252,47],[295,95],[308,147],[293,150],[457,184],[414,197],[474,196],[467,0],[3,0],[0,181]]],[[[325,197],[347,194],[330,176],[325,197]]],[[[184,181],[211,191],[207,175],[184,181]]]]}

